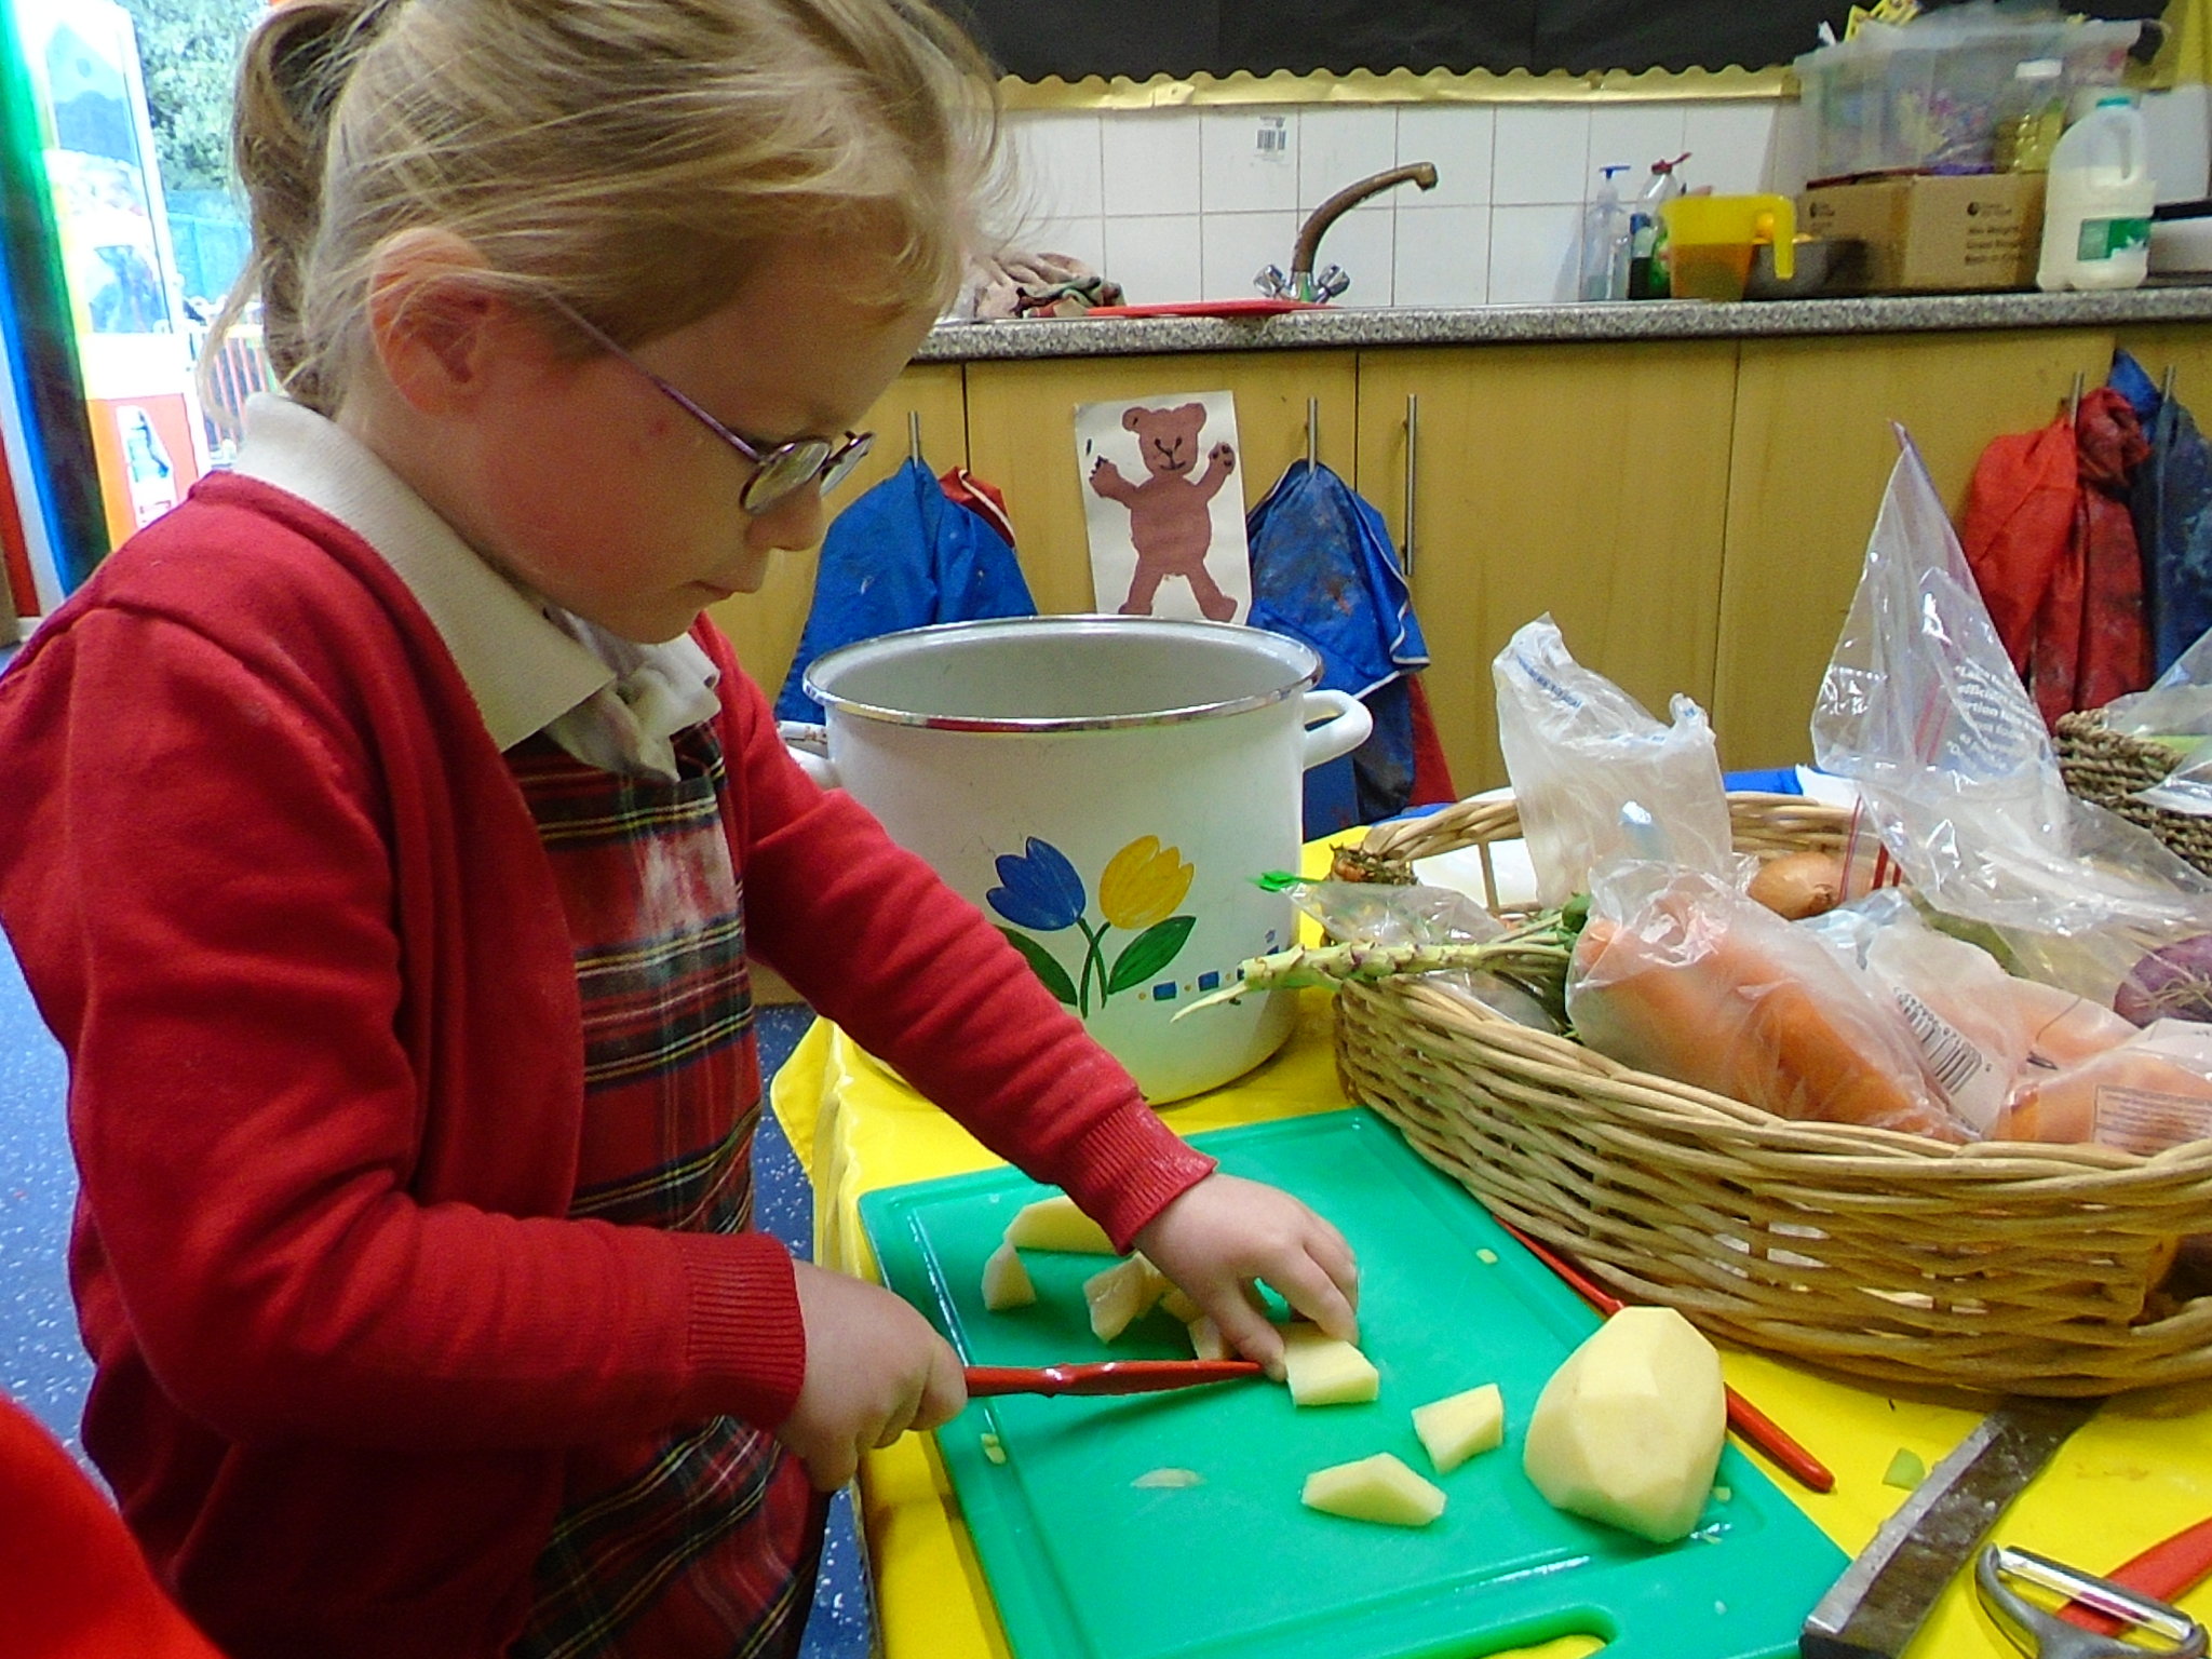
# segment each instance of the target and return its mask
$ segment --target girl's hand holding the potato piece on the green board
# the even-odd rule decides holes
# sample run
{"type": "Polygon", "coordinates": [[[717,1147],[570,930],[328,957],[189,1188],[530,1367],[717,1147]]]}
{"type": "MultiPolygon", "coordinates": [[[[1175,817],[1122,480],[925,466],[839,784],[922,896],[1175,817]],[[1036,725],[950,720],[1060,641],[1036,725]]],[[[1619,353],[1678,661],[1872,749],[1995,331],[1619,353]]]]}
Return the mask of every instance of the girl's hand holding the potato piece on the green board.
{"type": "Polygon", "coordinates": [[[1230,1345],[1283,1376],[1283,1334],[1254,1307],[1265,1279],[1329,1336],[1360,1336],[1360,1267],[1345,1237],[1287,1192],[1208,1175],[1144,1223],[1137,1248],[1203,1307],[1230,1345]]]}

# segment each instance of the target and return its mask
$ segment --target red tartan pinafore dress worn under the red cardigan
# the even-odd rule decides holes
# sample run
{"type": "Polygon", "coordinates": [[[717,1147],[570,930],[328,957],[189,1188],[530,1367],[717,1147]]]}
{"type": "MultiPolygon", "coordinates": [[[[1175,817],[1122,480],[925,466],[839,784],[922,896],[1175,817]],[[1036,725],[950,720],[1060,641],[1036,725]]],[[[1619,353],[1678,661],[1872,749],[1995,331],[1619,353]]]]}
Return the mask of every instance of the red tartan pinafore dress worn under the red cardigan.
{"type": "MultiPolygon", "coordinates": [[[[540,732],[509,750],[568,914],[584,1000],[573,1219],[737,1232],[752,1221],[761,1077],[743,894],[712,723],[679,776],[606,772],[540,732]]],[[[792,1655],[825,1502],[734,1418],[568,1455],[513,1659],[792,1655]]]]}

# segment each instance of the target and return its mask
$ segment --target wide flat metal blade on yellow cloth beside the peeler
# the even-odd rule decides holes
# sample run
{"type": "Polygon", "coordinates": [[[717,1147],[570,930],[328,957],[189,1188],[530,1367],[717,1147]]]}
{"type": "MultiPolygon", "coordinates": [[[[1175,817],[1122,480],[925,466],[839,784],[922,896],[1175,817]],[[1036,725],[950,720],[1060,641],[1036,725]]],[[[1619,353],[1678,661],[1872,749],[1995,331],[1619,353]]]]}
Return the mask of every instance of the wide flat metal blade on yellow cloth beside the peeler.
{"type": "Polygon", "coordinates": [[[2101,1400],[2006,1400],[1882,1522],[1798,1635],[1803,1659],[1898,1659],[1997,1515],[2101,1400]]]}

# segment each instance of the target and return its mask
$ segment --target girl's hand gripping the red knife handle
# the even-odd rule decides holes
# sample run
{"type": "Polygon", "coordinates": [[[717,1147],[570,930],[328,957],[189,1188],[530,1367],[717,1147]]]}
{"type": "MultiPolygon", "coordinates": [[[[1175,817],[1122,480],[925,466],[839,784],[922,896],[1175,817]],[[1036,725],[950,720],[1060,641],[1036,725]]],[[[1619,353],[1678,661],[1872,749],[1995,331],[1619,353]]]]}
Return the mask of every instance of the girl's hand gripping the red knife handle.
{"type": "Polygon", "coordinates": [[[967,1405],[960,1356],[887,1290],[794,1261],[807,1374],[776,1440],[816,1491],[836,1491],[860,1453],[936,1429],[967,1405]]]}

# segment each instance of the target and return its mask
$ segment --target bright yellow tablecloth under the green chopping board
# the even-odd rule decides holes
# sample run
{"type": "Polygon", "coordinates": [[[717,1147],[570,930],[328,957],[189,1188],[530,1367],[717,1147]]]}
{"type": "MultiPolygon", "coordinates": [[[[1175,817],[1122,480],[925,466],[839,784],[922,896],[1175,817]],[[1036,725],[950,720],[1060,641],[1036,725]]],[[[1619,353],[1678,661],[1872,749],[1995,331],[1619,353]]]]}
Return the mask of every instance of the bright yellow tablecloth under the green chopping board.
{"type": "MultiPolygon", "coordinates": [[[[1314,849],[1307,849],[1310,858],[1314,849]]],[[[1325,991],[1301,991],[1285,1048],[1239,1082],[1179,1102],[1181,1135],[1336,1110],[1345,1097],[1332,1055],[1325,991]]],[[[858,1223],[863,1192],[991,1168],[967,1130],[914,1095],[836,1026],[818,1022],[776,1073],[774,1110],[814,1179],[814,1259],[874,1274],[858,1223]]],[[[1836,1471],[1814,1495],[1776,1484],[1845,1551],[1856,1553],[1905,1493],[1882,1482],[1909,1449],[1933,1467],[1975,1425],[1960,1394],[1854,1385],[1787,1360],[1723,1349],[1728,1380],[1836,1471]]],[[[876,1584],[885,1659],[1006,1659],[982,1568],[933,1436],[905,1436],[860,1464],[860,1517],[876,1584]]],[[[2212,1385],[2143,1389],[2110,1400],[2008,1511],[1997,1537],[2088,1568],[2112,1568],[2212,1513],[2212,1385]]],[[[1141,1588],[1141,1586],[1137,1586],[1141,1588]]],[[[2212,1619],[2212,1582],[2181,1597],[2212,1619]]],[[[1809,1608],[1807,1608],[1809,1610],[1809,1608]]],[[[1528,1659],[1588,1655],[1584,1637],[1528,1659]]],[[[1971,1588],[1953,1584],[1909,1659],[2017,1659],[1971,1588]]]]}

